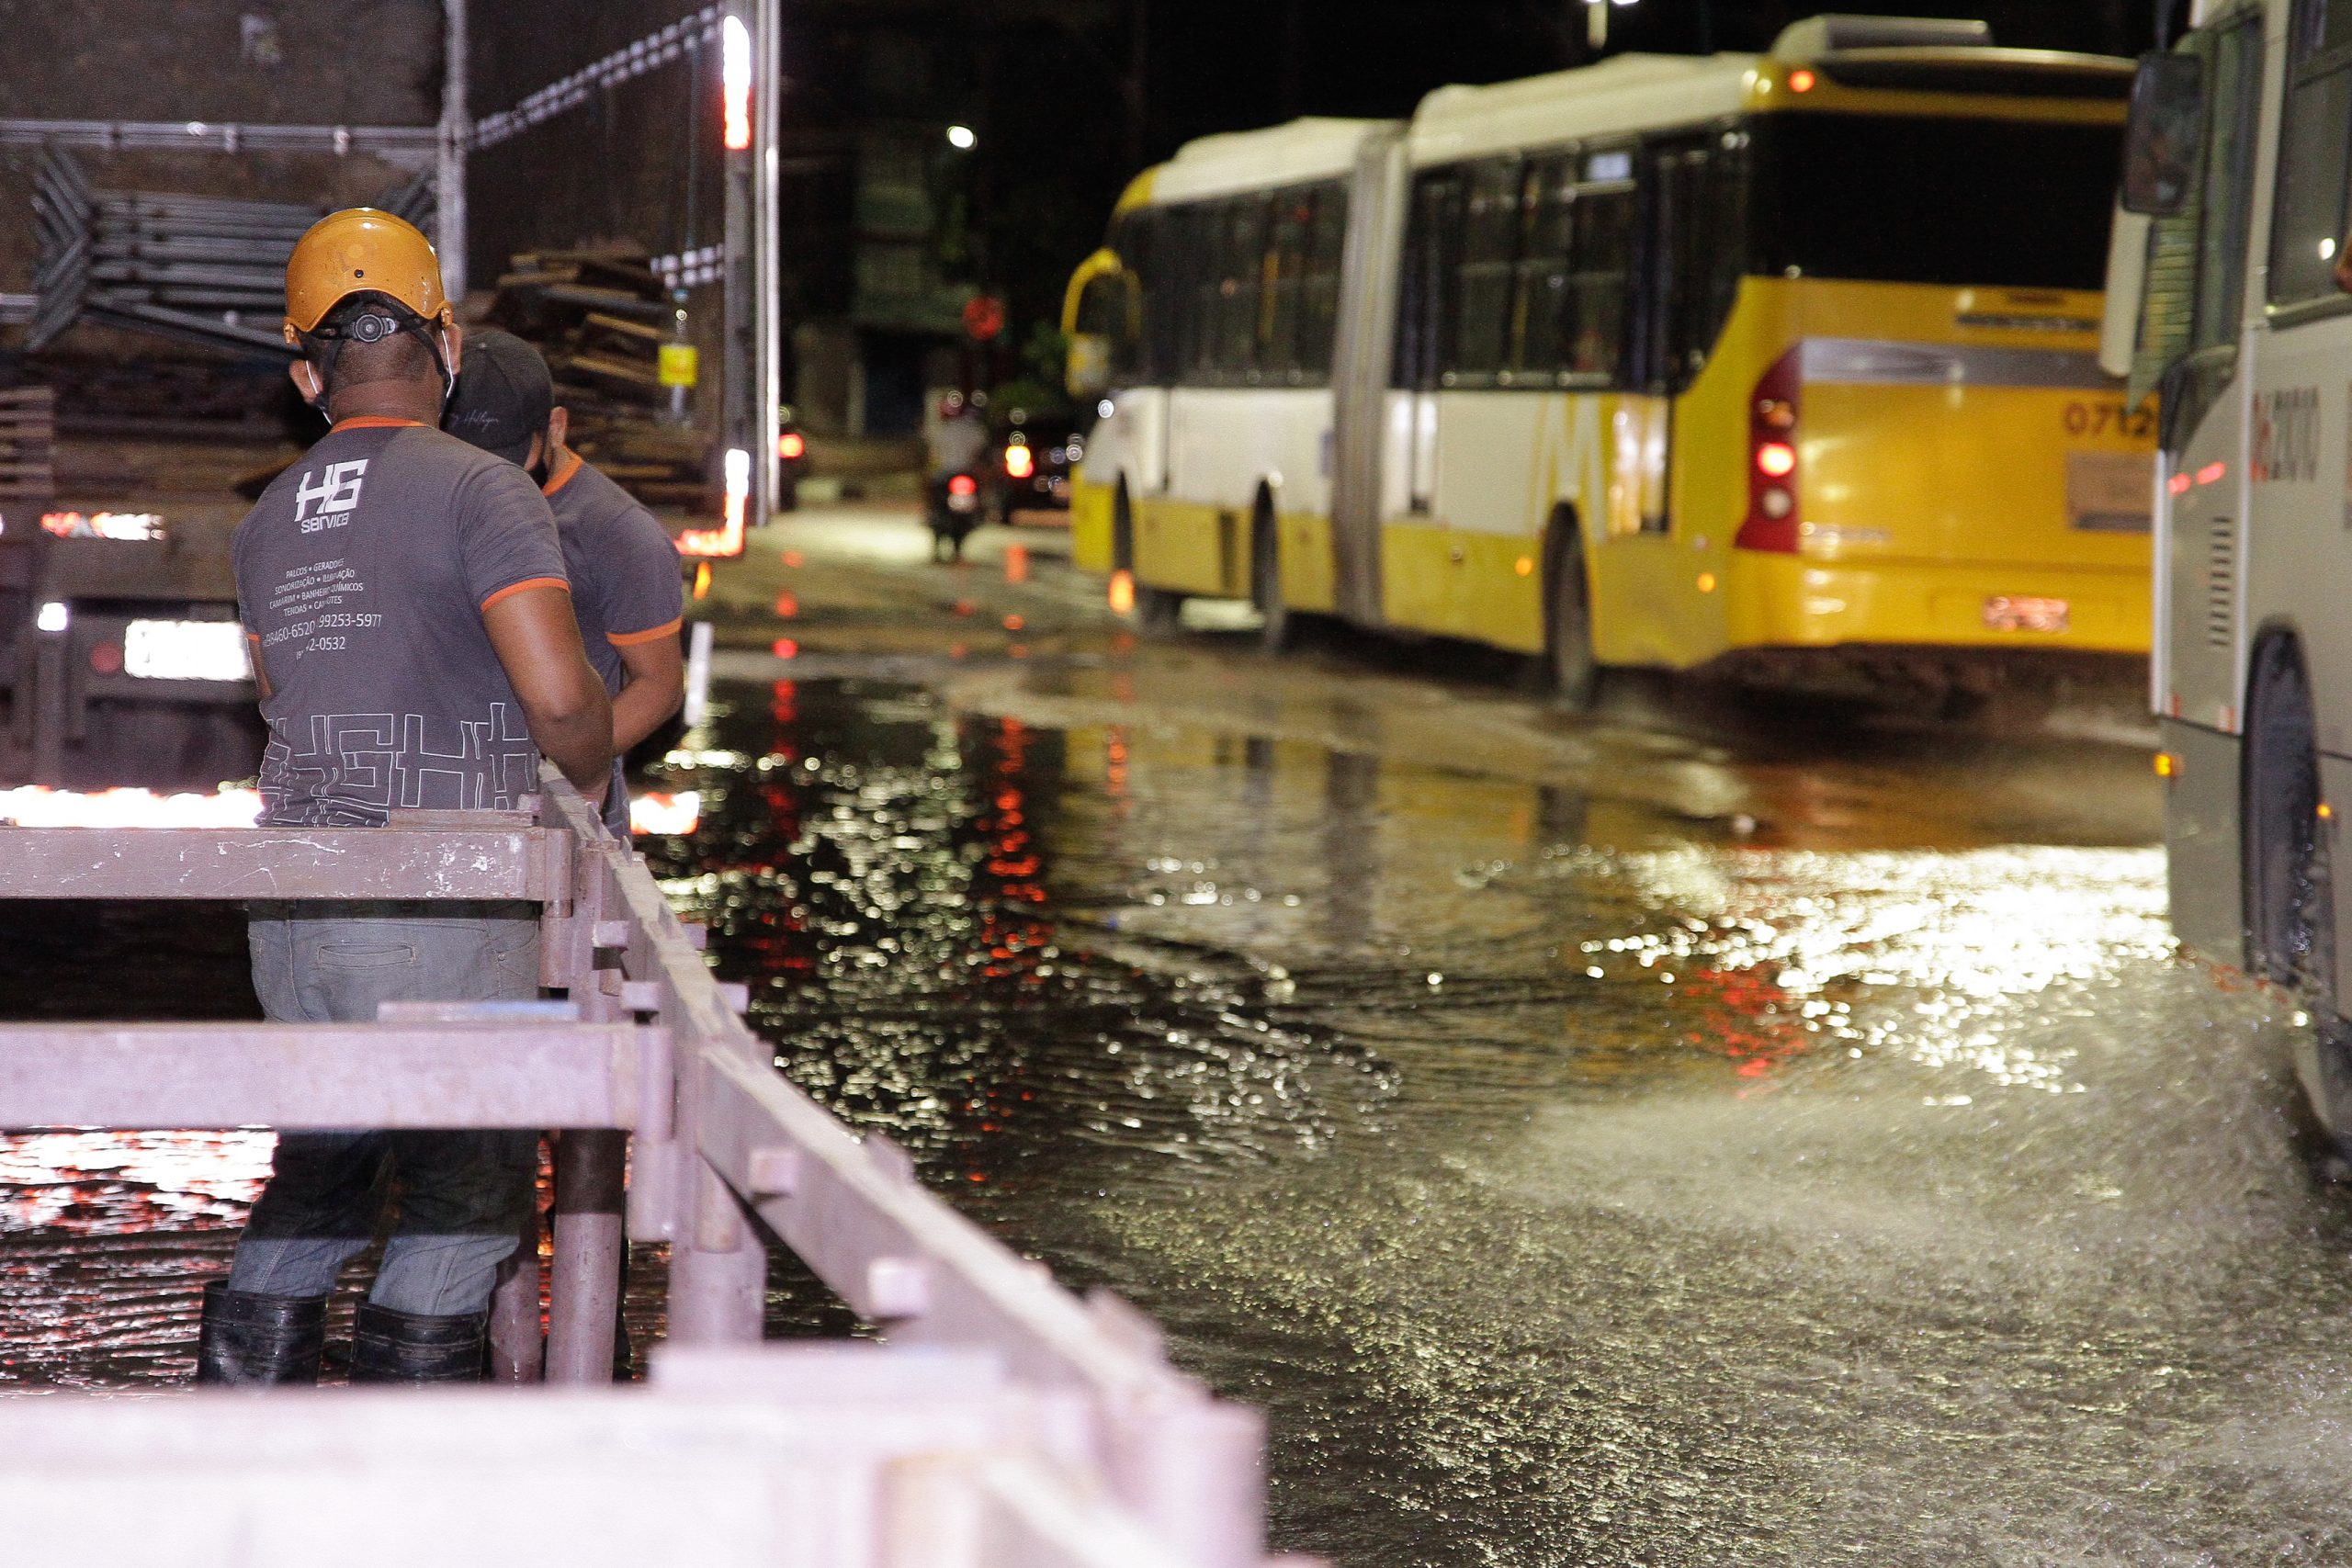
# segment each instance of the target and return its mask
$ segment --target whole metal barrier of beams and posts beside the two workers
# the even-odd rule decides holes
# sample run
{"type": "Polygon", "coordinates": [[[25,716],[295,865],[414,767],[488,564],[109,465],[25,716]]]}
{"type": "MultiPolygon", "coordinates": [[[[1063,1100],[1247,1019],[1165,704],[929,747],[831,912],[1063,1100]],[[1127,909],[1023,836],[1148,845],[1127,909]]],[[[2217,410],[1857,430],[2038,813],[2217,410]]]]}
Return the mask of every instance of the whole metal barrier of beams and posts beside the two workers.
{"type": "Polygon", "coordinates": [[[0,898],[541,903],[541,980],[564,1001],[395,1004],[374,1025],[0,1025],[0,1126],[560,1128],[548,1338],[534,1269],[515,1269],[492,1309],[506,1382],[609,1382],[623,1234],[670,1244],[652,1389],[0,1401],[0,1509],[28,1561],[162,1561],[146,1523],[113,1549],[122,1509],[82,1493],[151,1460],[202,1476],[172,1493],[172,1561],[202,1559],[200,1540],[261,1542],[242,1563],[353,1561],[362,1519],[367,1561],[480,1561],[510,1537],[574,1563],[1265,1563],[1258,1415],[1171,1368],[1138,1312],[1070,1295],[889,1140],[793,1088],[743,990],[710,976],[644,863],[553,771],[534,818],[0,827],[0,898]],[[769,1234],[884,1345],[757,1345],[769,1234]],[[358,1507],[388,1467],[449,1490],[358,1507]]]}

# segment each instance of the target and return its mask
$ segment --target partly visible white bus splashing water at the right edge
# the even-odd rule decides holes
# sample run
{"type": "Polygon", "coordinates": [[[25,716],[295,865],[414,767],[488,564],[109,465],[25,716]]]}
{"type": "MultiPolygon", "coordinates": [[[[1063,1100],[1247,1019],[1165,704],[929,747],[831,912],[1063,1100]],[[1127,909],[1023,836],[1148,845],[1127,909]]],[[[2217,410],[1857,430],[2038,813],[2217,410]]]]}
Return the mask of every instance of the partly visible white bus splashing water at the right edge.
{"type": "Polygon", "coordinates": [[[2152,698],[2173,929],[2300,990],[2352,1067],[2352,2],[2201,7],[2140,66],[2114,299],[2161,404],[2152,698]]]}

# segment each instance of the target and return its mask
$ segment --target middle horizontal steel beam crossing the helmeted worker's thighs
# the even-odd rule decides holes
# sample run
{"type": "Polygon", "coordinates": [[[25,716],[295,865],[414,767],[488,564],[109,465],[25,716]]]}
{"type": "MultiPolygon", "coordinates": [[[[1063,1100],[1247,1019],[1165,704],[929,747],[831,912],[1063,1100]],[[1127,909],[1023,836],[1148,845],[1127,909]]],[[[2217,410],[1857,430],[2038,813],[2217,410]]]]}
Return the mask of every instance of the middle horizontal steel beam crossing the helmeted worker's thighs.
{"type": "Polygon", "coordinates": [[[0,1128],[626,1128],[637,1051],[612,1023],[12,1023],[0,1128]]]}

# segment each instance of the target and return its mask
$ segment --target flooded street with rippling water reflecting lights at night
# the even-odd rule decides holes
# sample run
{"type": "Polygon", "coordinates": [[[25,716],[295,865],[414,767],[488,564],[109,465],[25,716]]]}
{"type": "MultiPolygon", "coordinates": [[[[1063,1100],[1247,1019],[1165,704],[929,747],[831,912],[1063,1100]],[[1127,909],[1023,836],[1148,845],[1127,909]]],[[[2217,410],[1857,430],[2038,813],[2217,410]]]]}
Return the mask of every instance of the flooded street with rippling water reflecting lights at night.
{"type": "MultiPolygon", "coordinates": [[[[2291,1023],[2173,950],[2129,693],[1573,719],[774,534],[640,846],[797,1084],[1270,1413],[1279,1547],[2352,1561],[2352,1208],[2291,1023]]],[[[252,1006],[228,919],[0,926],[9,1016],[252,1006]]],[[[0,1380],[183,1378],[266,1150],[0,1140],[0,1380]]]]}

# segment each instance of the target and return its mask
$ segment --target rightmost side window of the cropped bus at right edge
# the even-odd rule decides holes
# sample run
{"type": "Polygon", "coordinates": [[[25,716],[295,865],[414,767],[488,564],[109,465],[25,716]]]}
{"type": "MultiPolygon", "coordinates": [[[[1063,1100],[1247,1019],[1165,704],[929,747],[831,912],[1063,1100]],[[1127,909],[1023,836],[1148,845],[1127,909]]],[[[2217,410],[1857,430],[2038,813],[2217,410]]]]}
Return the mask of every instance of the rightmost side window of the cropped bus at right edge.
{"type": "Polygon", "coordinates": [[[2303,0],[2279,127],[2279,200],[2270,221],[2270,301],[2336,294],[2352,143],[2352,0],[2303,0]]]}

